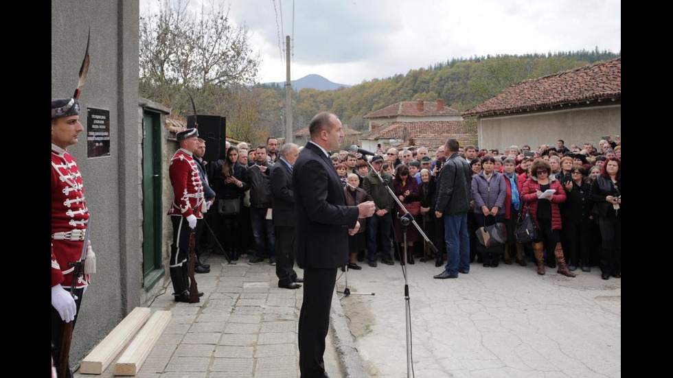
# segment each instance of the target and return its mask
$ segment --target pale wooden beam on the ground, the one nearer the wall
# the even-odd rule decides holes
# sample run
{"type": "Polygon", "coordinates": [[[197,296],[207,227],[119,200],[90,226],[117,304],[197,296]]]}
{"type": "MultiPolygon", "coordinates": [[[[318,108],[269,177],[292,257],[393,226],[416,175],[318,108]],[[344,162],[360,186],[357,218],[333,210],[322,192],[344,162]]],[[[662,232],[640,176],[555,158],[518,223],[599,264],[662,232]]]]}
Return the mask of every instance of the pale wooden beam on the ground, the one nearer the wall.
{"type": "Polygon", "coordinates": [[[82,360],[80,373],[102,374],[150,318],[150,309],[136,307],[82,360]]]}

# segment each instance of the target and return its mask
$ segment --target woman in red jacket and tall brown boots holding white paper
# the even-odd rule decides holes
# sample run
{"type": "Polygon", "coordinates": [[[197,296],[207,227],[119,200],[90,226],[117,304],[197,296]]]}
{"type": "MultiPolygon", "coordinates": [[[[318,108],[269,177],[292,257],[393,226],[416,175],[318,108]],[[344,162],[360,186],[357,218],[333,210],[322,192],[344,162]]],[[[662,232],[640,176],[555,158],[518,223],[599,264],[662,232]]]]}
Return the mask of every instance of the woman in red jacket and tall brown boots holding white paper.
{"type": "Polygon", "coordinates": [[[574,277],[575,273],[568,270],[563,257],[559,231],[561,229],[561,213],[558,204],[565,202],[563,187],[556,178],[550,178],[551,166],[541,158],[530,166],[530,178],[523,184],[521,198],[528,204],[530,215],[535,222],[536,238],[533,240],[533,252],[538,263],[538,274],[545,274],[545,254],[554,251],[558,260],[558,272],[564,276],[574,277]]]}

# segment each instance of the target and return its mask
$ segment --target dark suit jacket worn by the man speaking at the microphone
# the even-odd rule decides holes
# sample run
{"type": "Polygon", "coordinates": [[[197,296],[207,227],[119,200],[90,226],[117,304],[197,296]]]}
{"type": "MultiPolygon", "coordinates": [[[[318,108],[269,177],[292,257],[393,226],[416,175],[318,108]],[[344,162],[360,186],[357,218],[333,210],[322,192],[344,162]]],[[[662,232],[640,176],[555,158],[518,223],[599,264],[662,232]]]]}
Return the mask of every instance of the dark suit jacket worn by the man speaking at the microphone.
{"type": "Polygon", "coordinates": [[[346,206],[341,180],[332,161],[317,145],[307,143],[293,169],[299,268],[334,269],[348,263],[348,228],[358,208],[346,206]]]}

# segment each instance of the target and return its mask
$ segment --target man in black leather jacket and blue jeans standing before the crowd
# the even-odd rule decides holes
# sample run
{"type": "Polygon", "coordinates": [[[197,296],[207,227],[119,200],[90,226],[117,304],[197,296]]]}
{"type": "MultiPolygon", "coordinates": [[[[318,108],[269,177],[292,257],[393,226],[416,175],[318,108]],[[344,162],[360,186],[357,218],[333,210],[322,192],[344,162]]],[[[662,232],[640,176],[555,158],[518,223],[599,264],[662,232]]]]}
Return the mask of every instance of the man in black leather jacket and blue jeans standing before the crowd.
{"type": "Polygon", "coordinates": [[[446,239],[446,268],[435,279],[457,279],[458,273],[470,272],[470,236],[468,211],[470,211],[470,165],[458,154],[459,143],[449,139],[444,145],[446,162],[437,182],[435,216],[444,217],[446,239]]]}

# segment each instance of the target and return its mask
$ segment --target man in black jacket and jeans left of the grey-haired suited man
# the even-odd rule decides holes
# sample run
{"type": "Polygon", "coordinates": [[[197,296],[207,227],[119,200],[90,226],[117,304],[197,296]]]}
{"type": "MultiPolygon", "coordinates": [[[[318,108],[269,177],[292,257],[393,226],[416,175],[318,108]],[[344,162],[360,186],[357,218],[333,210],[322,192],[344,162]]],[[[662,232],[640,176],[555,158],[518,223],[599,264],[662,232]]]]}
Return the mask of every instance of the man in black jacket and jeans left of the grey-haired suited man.
{"type": "Polygon", "coordinates": [[[255,239],[256,256],[248,261],[257,264],[269,256],[271,265],[275,265],[276,238],[271,222],[271,183],[269,174],[273,165],[266,161],[266,145],[260,145],[255,151],[255,164],[248,169],[245,181],[250,185],[250,220],[255,239]],[[266,245],[266,253],[264,253],[266,245]]]}

